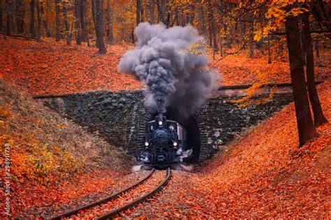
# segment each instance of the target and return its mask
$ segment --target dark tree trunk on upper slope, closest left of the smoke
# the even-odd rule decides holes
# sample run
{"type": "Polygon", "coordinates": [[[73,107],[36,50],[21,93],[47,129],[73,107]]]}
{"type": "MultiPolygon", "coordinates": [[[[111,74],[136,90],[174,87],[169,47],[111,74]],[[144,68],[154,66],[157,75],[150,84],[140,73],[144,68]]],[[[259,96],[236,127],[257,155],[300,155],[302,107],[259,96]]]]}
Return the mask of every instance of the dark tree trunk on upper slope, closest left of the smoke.
{"type": "Polygon", "coordinates": [[[96,39],[98,39],[99,54],[105,54],[105,42],[103,40],[103,1],[96,0],[96,39]]]}

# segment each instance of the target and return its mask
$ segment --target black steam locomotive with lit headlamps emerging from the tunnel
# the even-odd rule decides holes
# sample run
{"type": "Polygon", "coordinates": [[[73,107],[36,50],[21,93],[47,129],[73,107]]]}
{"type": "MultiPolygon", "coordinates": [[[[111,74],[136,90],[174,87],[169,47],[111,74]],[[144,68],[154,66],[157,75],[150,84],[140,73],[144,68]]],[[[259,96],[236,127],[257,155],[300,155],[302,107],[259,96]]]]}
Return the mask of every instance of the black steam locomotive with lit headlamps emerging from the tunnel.
{"type": "Polygon", "coordinates": [[[185,148],[184,127],[159,113],[155,120],[146,123],[144,150],[140,153],[140,160],[145,168],[176,166],[179,164],[179,149],[185,148]]]}

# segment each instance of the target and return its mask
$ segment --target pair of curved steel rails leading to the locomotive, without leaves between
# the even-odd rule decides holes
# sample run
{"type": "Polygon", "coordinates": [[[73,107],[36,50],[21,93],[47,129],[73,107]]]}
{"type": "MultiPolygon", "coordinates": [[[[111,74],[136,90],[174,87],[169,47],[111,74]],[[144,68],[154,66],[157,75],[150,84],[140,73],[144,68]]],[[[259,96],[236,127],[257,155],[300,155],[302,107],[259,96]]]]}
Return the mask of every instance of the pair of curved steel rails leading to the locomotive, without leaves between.
{"type": "MultiPolygon", "coordinates": [[[[122,196],[124,193],[126,193],[128,191],[133,191],[135,188],[137,188],[138,186],[140,186],[141,184],[143,184],[144,182],[149,180],[154,173],[155,173],[155,169],[153,168],[152,171],[145,178],[143,178],[139,182],[136,182],[135,184],[132,184],[130,187],[127,187],[126,189],[123,189],[122,191],[119,191],[115,194],[112,194],[111,196],[108,196],[107,198],[103,198],[100,201],[96,201],[94,203],[90,203],[89,205],[84,205],[82,207],[79,207],[75,210],[71,210],[71,211],[66,212],[64,214],[59,214],[55,217],[51,217],[50,219],[51,220],[59,220],[59,219],[63,219],[63,218],[68,218],[68,217],[71,217],[72,215],[78,214],[78,212],[80,212],[82,210],[87,210],[89,208],[93,208],[93,207],[96,207],[98,205],[108,203],[109,201],[113,201],[113,200],[119,198],[120,196],[122,196]]],[[[126,205],[122,205],[121,207],[117,207],[116,209],[113,209],[110,212],[106,212],[102,216],[96,217],[94,219],[113,219],[120,212],[128,210],[129,208],[134,207],[138,203],[142,203],[142,202],[146,201],[147,198],[151,198],[157,192],[161,191],[161,189],[168,183],[170,178],[171,178],[171,170],[170,170],[170,168],[168,168],[167,169],[167,175],[165,176],[165,179],[157,187],[155,187],[152,191],[149,191],[149,193],[144,194],[144,195],[142,195],[138,198],[135,198],[135,200],[133,200],[129,203],[126,203],[126,205]]]]}

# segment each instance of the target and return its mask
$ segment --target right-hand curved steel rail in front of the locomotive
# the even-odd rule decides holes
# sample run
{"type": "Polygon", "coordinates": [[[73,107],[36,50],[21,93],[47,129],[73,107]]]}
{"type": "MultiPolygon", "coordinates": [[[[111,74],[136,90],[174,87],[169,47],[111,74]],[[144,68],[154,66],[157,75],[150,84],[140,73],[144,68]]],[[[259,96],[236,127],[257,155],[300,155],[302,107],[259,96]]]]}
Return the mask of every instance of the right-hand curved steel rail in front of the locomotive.
{"type": "Polygon", "coordinates": [[[167,176],[165,177],[165,180],[163,180],[163,182],[161,182],[161,184],[159,184],[158,187],[156,187],[153,191],[150,191],[148,194],[145,194],[144,196],[141,196],[140,198],[135,199],[134,201],[132,201],[131,203],[128,203],[122,207],[117,208],[116,210],[112,210],[111,212],[108,212],[106,214],[103,214],[101,217],[96,218],[96,220],[103,220],[103,219],[114,219],[115,216],[117,214],[119,214],[119,212],[122,212],[124,210],[127,210],[130,207],[133,207],[135,205],[137,205],[138,203],[142,203],[143,201],[145,201],[147,198],[150,198],[152,196],[154,196],[154,194],[156,194],[157,192],[159,192],[162,187],[165,186],[165,184],[168,183],[168,181],[171,178],[171,170],[170,168],[168,168],[167,170],[167,176]]]}

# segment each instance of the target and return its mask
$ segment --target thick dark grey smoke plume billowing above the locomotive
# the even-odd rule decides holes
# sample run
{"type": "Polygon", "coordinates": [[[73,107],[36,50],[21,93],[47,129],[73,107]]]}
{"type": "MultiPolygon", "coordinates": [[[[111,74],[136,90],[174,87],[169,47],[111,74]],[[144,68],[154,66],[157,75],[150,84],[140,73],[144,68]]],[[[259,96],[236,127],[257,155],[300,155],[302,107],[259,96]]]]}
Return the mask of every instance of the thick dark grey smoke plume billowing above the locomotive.
{"type": "Polygon", "coordinates": [[[166,29],[145,22],[137,26],[135,35],[138,44],[121,58],[118,70],[145,82],[145,105],[159,113],[171,107],[186,115],[199,107],[219,74],[207,69],[203,48],[189,51],[191,45],[203,42],[198,31],[193,26],[166,29]]]}

